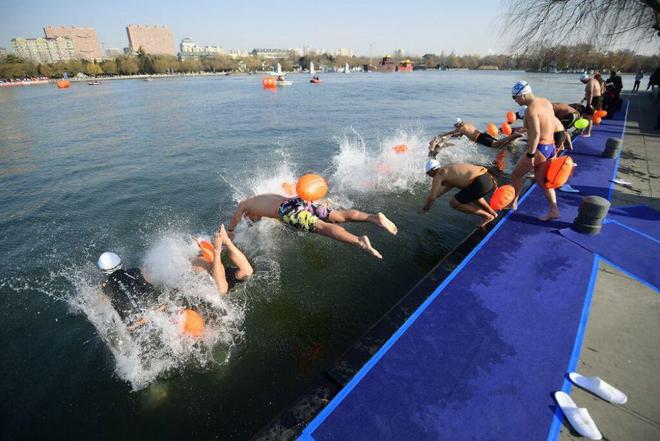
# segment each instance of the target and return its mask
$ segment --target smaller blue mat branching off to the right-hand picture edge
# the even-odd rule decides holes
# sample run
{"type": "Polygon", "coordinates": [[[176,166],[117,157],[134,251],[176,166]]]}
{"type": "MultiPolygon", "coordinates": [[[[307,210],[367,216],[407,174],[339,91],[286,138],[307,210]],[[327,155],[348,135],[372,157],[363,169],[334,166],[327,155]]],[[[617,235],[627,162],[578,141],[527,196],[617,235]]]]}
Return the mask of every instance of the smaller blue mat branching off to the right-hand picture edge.
{"type": "Polygon", "coordinates": [[[660,287],[660,241],[612,221],[600,234],[589,236],[564,228],[560,234],[594,254],[604,257],[656,290],[660,287]]]}

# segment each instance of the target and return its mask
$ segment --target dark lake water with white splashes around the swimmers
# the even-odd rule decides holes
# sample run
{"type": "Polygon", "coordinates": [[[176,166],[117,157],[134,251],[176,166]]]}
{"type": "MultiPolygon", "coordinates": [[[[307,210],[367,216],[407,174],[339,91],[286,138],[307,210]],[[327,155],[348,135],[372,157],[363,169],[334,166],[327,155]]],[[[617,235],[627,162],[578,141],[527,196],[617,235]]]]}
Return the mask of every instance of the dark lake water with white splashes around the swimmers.
{"type": "MultiPolygon", "coordinates": [[[[289,77],[274,92],[259,76],[0,91],[3,439],[249,439],[472,231],[447,197],[416,213],[428,140],[456,117],[499,125],[518,79],[555,101],[583,93],[576,75],[524,72],[289,77]],[[190,271],[191,238],[306,172],[328,179],[333,206],[398,225],[397,236],[347,225],[384,259],[272,221],[241,225],[255,277],[217,297],[190,271]],[[144,267],[170,310],[204,309],[204,340],[153,313],[156,343],[145,331],[111,349],[95,266],[106,250],[144,267]]],[[[441,159],[495,153],[462,141],[441,159]]]]}

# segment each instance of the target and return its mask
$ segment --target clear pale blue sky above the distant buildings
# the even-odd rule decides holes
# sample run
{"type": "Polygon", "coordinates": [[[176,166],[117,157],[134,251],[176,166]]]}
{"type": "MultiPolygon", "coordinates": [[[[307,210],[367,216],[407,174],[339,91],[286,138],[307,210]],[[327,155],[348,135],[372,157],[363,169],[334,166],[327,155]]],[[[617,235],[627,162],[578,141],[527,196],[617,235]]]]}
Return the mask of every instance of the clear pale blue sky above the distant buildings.
{"type": "MultiPolygon", "coordinates": [[[[126,25],[166,25],[177,51],[184,37],[201,45],[352,49],[360,55],[397,48],[422,55],[505,52],[498,0],[30,0],[7,2],[0,15],[0,46],[15,37],[43,36],[47,25],[96,29],[102,49],[128,46],[126,25]],[[277,6],[276,6],[277,5],[277,6]]],[[[657,52],[657,44],[629,48],[657,52]]]]}

